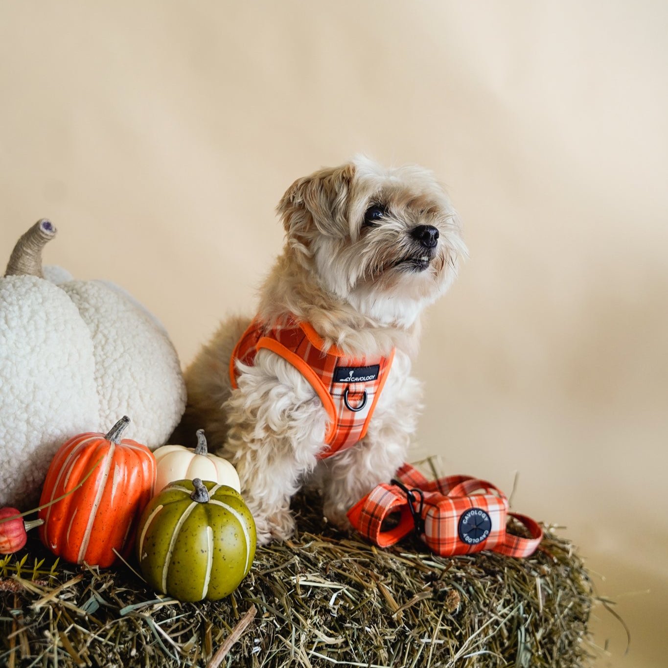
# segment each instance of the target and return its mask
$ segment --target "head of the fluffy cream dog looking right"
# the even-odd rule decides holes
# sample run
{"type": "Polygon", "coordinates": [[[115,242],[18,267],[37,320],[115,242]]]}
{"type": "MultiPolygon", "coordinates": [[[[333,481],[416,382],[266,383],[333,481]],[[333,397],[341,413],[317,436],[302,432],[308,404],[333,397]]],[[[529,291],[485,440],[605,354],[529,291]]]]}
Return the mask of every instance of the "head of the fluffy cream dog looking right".
{"type": "Polygon", "coordinates": [[[381,321],[411,324],[466,254],[448,196],[417,166],[355,158],[295,181],[278,212],[295,260],[381,321]]]}

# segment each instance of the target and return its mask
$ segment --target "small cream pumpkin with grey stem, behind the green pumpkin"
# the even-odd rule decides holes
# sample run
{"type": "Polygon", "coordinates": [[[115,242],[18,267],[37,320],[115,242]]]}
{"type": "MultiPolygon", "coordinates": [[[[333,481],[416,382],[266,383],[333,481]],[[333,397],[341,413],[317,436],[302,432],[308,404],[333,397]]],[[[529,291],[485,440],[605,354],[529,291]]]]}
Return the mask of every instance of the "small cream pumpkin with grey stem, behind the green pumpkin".
{"type": "Polygon", "coordinates": [[[197,447],[194,450],[184,446],[162,446],[154,451],[158,462],[156,492],[174,480],[212,480],[220,485],[227,485],[236,492],[241,491],[241,484],[236,469],[230,462],[208,452],[204,430],[197,432],[197,447]]]}

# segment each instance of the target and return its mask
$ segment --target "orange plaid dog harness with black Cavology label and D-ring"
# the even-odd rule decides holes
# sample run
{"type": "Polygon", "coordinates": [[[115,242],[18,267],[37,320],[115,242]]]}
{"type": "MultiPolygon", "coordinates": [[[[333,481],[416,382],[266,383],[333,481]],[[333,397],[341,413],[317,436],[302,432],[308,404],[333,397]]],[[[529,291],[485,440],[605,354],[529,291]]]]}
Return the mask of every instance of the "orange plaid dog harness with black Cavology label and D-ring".
{"type": "Polygon", "coordinates": [[[324,347],[315,329],[295,317],[273,327],[255,319],[230,359],[232,387],[237,387],[236,360],[252,366],[261,349],[283,357],[311,383],[329,415],[325,437],[329,448],[320,459],[351,448],[364,438],[394,357],[394,351],[387,357],[347,357],[335,347],[323,351],[324,347]]]}

